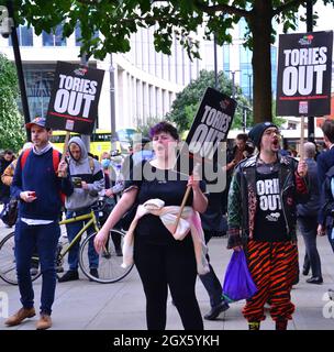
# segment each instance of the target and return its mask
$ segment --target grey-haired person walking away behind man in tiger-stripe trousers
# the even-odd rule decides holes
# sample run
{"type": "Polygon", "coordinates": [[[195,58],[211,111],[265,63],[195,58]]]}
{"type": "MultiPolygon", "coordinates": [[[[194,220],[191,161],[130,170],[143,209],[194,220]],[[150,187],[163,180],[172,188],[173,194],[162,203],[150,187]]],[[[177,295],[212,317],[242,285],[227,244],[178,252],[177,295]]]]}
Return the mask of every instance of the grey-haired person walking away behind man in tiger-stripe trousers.
{"type": "Polygon", "coordinates": [[[303,205],[298,205],[298,224],[305,243],[305,256],[303,263],[303,275],[308,275],[310,267],[312,277],[307,279],[309,284],[322,284],[321,261],[316,249],[318,213],[320,210],[320,191],[318,185],[315,144],[308,142],[304,148],[305,162],[309,174],[310,200],[303,205]]]}

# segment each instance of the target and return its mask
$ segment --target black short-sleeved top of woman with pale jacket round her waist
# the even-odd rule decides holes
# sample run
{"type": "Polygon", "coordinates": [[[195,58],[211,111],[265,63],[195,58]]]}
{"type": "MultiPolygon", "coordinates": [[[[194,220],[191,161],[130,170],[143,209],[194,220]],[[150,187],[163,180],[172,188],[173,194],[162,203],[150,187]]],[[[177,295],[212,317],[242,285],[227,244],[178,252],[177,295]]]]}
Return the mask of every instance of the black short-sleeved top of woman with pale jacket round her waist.
{"type": "MultiPolygon", "coordinates": [[[[125,189],[131,186],[138,188],[137,204],[143,205],[148,199],[159,198],[165,201],[165,206],[181,205],[188,183],[185,176],[180,177],[180,174],[174,170],[156,168],[148,162],[136,165],[131,176],[132,179],[125,183],[125,189]]],[[[200,187],[204,189],[203,182],[200,183],[200,187]]],[[[192,191],[189,194],[186,206],[192,206],[192,191]]],[[[155,244],[176,242],[160,218],[154,215],[146,215],[140,219],[135,235],[145,237],[147,241],[155,244]]],[[[190,237],[188,235],[185,240],[190,240],[190,237]]]]}

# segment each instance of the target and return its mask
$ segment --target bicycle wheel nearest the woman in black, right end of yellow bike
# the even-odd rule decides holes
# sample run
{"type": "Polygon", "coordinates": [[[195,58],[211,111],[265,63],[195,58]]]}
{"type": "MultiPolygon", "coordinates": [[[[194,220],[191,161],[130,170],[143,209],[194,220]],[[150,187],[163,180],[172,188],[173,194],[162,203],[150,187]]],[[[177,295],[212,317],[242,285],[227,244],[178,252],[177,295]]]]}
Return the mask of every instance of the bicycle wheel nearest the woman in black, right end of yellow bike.
{"type": "Polygon", "coordinates": [[[123,245],[124,233],[119,230],[110,231],[109,239],[105,243],[105,251],[102,251],[99,255],[99,277],[94,277],[90,274],[88,262],[89,240],[96,233],[92,233],[87,237],[80,246],[79,264],[81,271],[89,279],[93,282],[100,284],[116,283],[125,277],[133,267],[133,265],[126,268],[121,267],[123,261],[121,249],[123,245]]]}

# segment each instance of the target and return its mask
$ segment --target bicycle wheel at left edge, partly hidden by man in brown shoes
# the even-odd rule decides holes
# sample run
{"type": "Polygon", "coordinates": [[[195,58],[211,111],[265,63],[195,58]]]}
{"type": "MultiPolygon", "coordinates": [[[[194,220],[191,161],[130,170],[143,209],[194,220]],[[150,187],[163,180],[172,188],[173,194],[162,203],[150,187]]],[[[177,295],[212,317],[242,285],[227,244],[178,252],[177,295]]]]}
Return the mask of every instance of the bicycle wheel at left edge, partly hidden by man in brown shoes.
{"type": "MultiPolygon", "coordinates": [[[[0,242],[0,277],[11,285],[18,285],[16,263],[15,263],[15,241],[14,232],[9,233],[0,242]]],[[[32,257],[31,277],[35,280],[41,276],[38,258],[32,257]],[[35,265],[34,265],[35,264],[35,265]]]]}

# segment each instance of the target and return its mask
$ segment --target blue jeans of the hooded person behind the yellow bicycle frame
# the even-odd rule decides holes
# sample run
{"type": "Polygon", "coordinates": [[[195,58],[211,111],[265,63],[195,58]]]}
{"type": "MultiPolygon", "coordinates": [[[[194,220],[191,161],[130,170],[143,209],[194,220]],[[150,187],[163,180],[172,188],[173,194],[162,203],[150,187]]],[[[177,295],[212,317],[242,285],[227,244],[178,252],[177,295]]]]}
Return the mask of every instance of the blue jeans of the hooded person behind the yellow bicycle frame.
{"type": "MultiPolygon", "coordinates": [[[[80,209],[77,211],[67,210],[66,212],[66,219],[70,219],[78,216],[84,216],[86,213],[90,212],[90,207],[80,209]]],[[[96,215],[97,216],[97,215],[96,215]]],[[[73,223],[66,224],[66,231],[68,241],[73,241],[73,239],[77,235],[77,233],[82,229],[86,221],[76,221],[73,223]]],[[[87,230],[87,235],[94,232],[94,229],[92,227],[89,227],[87,230]]],[[[68,265],[70,271],[77,271],[79,265],[79,248],[80,248],[80,241],[78,241],[68,252],[68,265]]],[[[93,248],[93,239],[90,239],[89,245],[88,245],[88,260],[89,260],[89,267],[90,268],[98,268],[99,266],[99,254],[96,252],[93,248]]]]}

